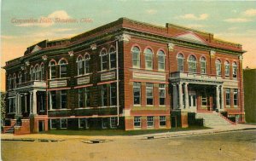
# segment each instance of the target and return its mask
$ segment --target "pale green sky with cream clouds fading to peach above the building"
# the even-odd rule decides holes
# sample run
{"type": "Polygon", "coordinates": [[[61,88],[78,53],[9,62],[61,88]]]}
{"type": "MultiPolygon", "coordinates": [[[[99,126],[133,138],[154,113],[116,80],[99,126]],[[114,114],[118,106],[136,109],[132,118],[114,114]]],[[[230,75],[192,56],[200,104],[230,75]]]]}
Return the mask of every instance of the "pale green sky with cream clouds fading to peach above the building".
{"type": "Polygon", "coordinates": [[[72,37],[127,17],[158,26],[166,23],[187,26],[241,43],[247,50],[244,67],[256,67],[255,1],[3,0],[1,9],[1,66],[41,40],[72,37]],[[78,23],[18,24],[12,21],[56,17],[75,19],[78,23]],[[91,21],[82,23],[83,18],[91,21]]]}

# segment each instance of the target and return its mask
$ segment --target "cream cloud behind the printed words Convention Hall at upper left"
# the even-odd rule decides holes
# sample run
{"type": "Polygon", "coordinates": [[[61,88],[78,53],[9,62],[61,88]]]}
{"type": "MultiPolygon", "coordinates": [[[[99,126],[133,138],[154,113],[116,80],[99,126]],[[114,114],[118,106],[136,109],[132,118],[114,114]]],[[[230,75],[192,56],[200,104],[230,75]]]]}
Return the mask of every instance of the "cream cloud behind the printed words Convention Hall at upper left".
{"type": "Polygon", "coordinates": [[[41,16],[38,18],[36,22],[29,22],[29,23],[19,23],[16,24],[15,26],[41,26],[41,27],[48,27],[48,26],[53,26],[55,24],[55,19],[59,18],[61,20],[67,20],[71,19],[71,16],[67,14],[66,11],[64,10],[57,10],[48,16],[41,16]]]}

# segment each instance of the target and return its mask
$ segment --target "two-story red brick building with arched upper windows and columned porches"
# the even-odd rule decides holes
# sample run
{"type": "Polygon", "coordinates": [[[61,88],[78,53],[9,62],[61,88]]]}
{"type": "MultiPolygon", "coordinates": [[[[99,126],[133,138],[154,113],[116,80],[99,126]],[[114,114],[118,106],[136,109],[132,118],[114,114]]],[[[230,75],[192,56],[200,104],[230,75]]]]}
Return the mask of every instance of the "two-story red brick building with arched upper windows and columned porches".
{"type": "Polygon", "coordinates": [[[9,127],[169,129],[213,111],[243,122],[243,53],[212,33],[126,18],[44,40],[6,62],[9,127]]]}

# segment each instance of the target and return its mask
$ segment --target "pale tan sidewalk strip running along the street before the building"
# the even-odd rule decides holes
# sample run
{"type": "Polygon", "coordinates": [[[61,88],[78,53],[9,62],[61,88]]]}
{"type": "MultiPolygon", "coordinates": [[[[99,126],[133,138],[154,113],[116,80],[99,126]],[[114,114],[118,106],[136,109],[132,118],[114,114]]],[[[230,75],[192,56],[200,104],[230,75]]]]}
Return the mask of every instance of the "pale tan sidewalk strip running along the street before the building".
{"type": "Polygon", "coordinates": [[[50,140],[72,140],[72,139],[83,139],[83,140],[93,140],[93,139],[102,139],[102,140],[125,140],[125,139],[147,139],[148,137],[154,138],[167,138],[167,137],[182,137],[189,135],[207,135],[213,133],[223,133],[229,131],[237,130],[247,130],[247,129],[256,129],[256,125],[251,124],[236,124],[230,126],[218,126],[212,129],[198,129],[198,130],[188,130],[188,131],[177,131],[177,132],[166,132],[166,133],[156,133],[148,135],[115,135],[115,136],[106,136],[106,135],[49,135],[49,134],[30,134],[30,135],[12,135],[12,134],[1,134],[1,139],[50,139],[50,140]]]}

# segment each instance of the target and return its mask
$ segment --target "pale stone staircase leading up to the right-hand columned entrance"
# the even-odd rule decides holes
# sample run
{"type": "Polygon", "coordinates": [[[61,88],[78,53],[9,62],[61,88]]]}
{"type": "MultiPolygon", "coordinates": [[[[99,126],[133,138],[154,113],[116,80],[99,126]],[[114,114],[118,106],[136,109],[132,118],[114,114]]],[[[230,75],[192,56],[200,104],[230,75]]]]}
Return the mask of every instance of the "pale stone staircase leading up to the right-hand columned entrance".
{"type": "Polygon", "coordinates": [[[235,124],[218,112],[198,112],[196,113],[195,117],[203,118],[204,126],[209,128],[227,127],[235,124]]]}

